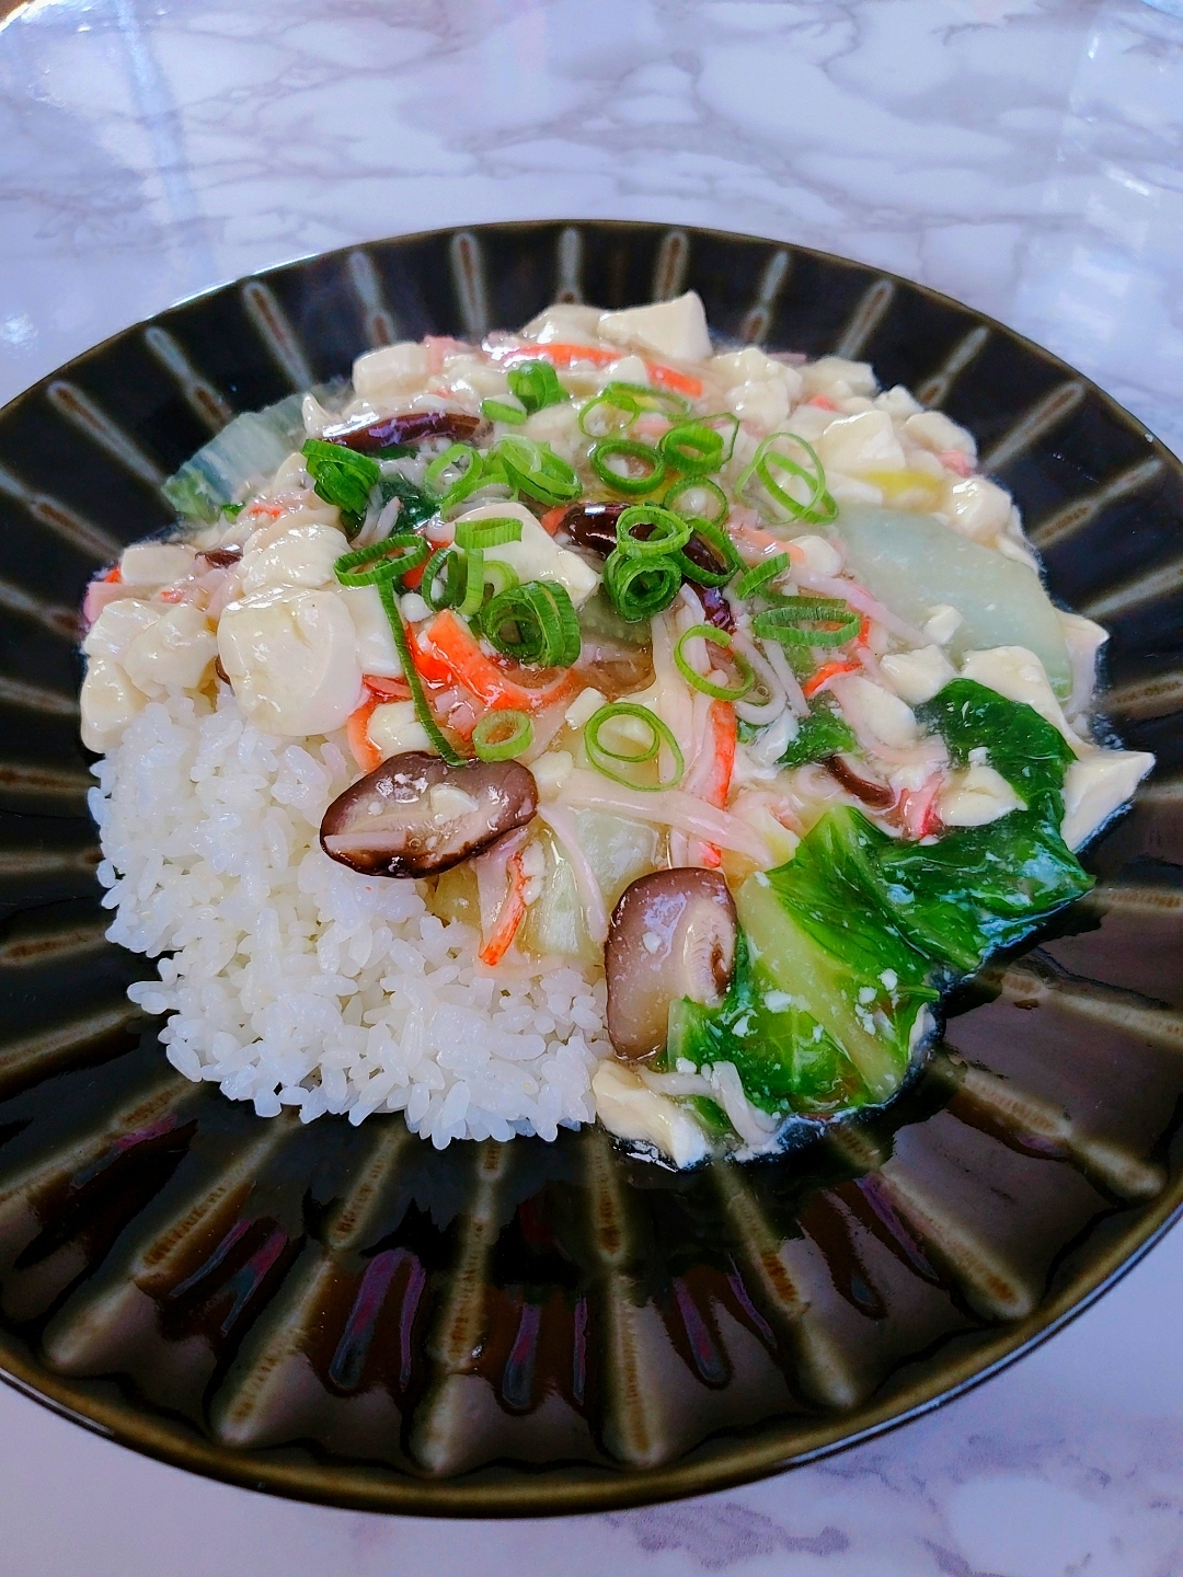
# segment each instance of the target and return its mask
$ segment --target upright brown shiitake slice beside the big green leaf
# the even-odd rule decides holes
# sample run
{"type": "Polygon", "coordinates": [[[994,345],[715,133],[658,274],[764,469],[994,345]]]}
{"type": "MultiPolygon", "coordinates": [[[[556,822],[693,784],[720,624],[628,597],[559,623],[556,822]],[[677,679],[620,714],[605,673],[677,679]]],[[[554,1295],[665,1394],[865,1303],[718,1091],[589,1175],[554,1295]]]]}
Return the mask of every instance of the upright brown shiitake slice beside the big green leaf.
{"type": "Polygon", "coordinates": [[[737,932],[718,871],[655,871],[625,889],[604,945],[607,1033],[620,1057],[636,1061],[666,1046],[672,1001],[722,1001],[737,932]]]}

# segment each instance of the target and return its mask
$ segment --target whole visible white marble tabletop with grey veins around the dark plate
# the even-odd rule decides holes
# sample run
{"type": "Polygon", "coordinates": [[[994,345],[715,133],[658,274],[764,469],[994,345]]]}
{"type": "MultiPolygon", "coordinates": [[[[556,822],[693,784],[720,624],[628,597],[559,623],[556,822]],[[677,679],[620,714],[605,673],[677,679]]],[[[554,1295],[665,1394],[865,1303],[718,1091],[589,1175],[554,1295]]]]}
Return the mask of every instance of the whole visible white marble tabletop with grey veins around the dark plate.
{"type": "MultiPolygon", "coordinates": [[[[749,230],[946,290],[1183,453],[1183,0],[0,0],[0,401],[169,303],[481,219],[749,230]]],[[[820,1465],[593,1519],[328,1511],[0,1391],[13,1577],[1175,1577],[1183,1235],[820,1465]]]]}

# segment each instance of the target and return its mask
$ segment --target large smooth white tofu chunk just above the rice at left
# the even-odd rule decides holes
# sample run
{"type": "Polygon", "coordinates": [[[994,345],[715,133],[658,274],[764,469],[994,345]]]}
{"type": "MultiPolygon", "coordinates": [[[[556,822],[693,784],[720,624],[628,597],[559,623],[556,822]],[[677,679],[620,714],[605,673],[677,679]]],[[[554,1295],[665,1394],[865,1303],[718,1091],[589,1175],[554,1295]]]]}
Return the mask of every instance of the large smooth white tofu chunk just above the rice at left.
{"type": "Polygon", "coordinates": [[[268,733],[331,733],[361,700],[356,631],[338,591],[273,587],[230,602],[218,654],[238,705],[268,733]]]}

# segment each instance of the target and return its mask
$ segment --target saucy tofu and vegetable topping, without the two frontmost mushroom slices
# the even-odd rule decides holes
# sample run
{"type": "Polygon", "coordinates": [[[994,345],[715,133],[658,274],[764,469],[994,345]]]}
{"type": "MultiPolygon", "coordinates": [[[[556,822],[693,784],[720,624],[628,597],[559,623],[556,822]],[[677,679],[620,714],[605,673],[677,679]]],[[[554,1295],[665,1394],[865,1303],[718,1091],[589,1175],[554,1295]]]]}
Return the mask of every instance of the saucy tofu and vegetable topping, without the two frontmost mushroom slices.
{"type": "Polygon", "coordinates": [[[170,489],[185,533],[88,593],[85,743],[219,688],[270,735],[338,736],[358,774],[513,735],[535,820],[424,885],[491,970],[598,970],[631,883],[719,872],[743,938],[727,1001],[674,1000],[667,1050],[593,1080],[609,1128],[680,1164],[890,1094],[940,982],[1005,940],[984,841],[1016,891],[1016,830],[1060,861],[1033,923],[1151,765],[1092,740],[1104,631],[1051,604],[970,434],[861,363],[716,355],[694,295],[371,352],[344,397],[240,418],[170,489]],[[1038,781],[1006,765],[1016,725],[1038,781]],[[961,864],[901,864],[912,847],[961,864]],[[811,896],[819,858],[852,883],[858,943],[811,896]],[[893,902],[937,916],[899,956],[893,902]],[[956,904],[976,940],[940,941],[956,904]]]}

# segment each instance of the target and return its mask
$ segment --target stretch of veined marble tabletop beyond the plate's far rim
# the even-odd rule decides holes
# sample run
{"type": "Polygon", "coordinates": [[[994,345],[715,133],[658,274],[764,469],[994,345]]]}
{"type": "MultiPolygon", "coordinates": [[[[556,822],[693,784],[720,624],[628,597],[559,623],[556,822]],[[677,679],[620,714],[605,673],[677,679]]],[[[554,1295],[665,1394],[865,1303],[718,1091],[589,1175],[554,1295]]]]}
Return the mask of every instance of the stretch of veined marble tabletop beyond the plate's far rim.
{"type": "Polygon", "coordinates": [[[1142,0],[33,0],[0,90],[3,396],[260,265],[615,214],[923,279],[1183,446],[1183,22],[1142,0]]]}

